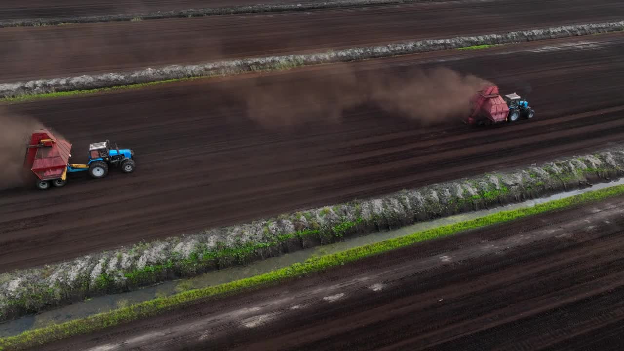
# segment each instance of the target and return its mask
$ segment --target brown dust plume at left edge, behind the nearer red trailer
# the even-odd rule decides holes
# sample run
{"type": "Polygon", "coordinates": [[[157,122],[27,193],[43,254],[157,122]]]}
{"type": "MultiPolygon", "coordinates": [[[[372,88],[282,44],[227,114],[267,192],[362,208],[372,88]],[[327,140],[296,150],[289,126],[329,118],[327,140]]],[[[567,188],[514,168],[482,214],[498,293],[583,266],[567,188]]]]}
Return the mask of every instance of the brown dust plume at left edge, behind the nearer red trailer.
{"type": "Polygon", "coordinates": [[[0,190],[26,185],[26,146],[32,131],[42,127],[35,119],[11,114],[0,107],[0,190]]]}

